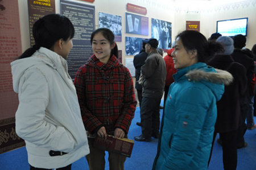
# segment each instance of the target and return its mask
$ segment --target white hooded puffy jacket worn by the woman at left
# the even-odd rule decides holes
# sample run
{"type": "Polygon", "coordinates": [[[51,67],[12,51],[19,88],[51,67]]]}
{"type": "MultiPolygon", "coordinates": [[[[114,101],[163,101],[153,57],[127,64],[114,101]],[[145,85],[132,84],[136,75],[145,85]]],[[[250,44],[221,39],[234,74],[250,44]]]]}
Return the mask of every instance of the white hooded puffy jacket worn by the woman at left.
{"type": "Polygon", "coordinates": [[[28,163],[60,168],[89,154],[67,61],[41,47],[31,57],[13,61],[11,70],[14,91],[19,93],[16,133],[26,142],[28,163]],[[50,150],[68,154],[50,156],[50,150]]]}

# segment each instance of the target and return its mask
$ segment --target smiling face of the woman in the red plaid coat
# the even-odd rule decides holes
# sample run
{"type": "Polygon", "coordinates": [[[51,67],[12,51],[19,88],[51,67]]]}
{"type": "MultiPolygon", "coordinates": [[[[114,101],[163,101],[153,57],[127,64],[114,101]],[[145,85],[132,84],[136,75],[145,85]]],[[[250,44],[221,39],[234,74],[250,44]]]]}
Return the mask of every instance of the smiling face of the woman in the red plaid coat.
{"type": "Polygon", "coordinates": [[[115,47],[115,44],[110,42],[102,35],[101,32],[94,35],[92,40],[92,50],[94,55],[101,61],[101,63],[108,63],[111,50],[115,47]]]}

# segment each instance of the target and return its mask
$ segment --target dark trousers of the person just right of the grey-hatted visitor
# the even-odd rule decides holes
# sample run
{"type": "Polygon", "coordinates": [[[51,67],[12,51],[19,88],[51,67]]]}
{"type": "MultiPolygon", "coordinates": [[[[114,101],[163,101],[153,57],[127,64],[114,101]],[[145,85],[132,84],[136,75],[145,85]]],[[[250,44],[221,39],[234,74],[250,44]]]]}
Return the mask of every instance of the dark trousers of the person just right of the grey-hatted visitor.
{"type": "Polygon", "coordinates": [[[243,147],[245,145],[245,139],[243,138],[243,135],[245,135],[245,132],[247,130],[247,125],[245,123],[246,117],[247,117],[247,106],[248,99],[247,97],[240,98],[240,107],[241,107],[241,124],[240,127],[238,127],[237,131],[237,147],[243,147]]]}

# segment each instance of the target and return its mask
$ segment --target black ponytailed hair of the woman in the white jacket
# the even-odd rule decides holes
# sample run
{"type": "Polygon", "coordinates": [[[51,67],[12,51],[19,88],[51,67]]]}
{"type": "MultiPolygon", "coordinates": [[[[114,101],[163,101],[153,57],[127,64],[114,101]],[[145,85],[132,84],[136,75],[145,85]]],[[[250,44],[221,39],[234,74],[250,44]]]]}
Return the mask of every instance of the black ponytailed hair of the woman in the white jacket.
{"type": "Polygon", "coordinates": [[[64,41],[72,39],[75,35],[75,28],[66,16],[49,14],[34,23],[32,32],[35,44],[23,52],[18,59],[30,57],[40,47],[50,49],[59,39],[64,41]]]}

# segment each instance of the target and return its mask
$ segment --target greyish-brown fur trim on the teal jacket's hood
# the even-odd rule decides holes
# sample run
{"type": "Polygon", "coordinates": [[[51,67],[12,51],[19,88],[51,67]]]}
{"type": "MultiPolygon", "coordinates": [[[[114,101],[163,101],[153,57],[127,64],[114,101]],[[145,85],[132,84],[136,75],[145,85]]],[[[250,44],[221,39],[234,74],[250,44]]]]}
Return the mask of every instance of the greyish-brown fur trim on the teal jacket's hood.
{"type": "Polygon", "coordinates": [[[218,84],[230,85],[233,82],[233,76],[227,71],[222,71],[221,69],[215,69],[217,73],[205,72],[201,69],[195,69],[189,71],[185,76],[189,81],[209,81],[218,84]]]}

